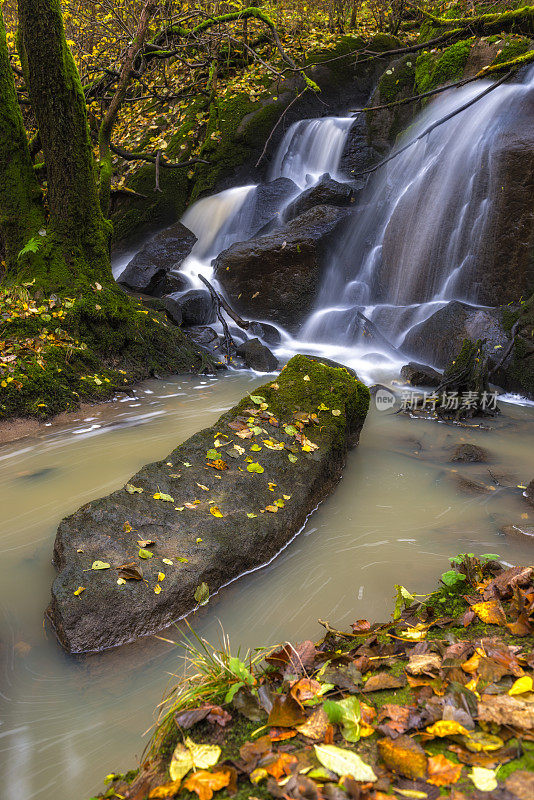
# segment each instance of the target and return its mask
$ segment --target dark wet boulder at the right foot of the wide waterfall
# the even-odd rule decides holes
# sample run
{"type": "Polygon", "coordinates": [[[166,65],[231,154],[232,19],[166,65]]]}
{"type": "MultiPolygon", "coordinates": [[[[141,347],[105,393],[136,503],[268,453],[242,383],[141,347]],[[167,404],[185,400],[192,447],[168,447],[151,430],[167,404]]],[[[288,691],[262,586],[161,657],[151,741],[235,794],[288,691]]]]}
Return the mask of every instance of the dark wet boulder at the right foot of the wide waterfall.
{"type": "Polygon", "coordinates": [[[464,339],[486,339],[486,352],[496,356],[506,346],[501,311],[452,300],[430,317],[414,325],[400,349],[444,369],[457,355],[464,339]]]}

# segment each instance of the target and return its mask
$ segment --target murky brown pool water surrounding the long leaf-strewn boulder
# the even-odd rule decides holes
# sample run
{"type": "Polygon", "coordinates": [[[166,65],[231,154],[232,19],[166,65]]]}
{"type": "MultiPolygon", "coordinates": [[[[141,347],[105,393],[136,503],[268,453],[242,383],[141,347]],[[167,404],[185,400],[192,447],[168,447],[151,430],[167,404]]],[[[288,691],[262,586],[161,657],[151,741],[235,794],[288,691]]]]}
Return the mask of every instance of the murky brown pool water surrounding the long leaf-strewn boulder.
{"type": "MultiPolygon", "coordinates": [[[[0,449],[0,785],[7,800],[82,800],[107,772],[132,766],[153,708],[180,669],[176,649],[153,637],[86,659],[60,651],[43,625],[59,520],[165,456],[261,382],[242,373],[153,381],[136,398],[0,449]]],[[[216,641],[222,625],[234,648],[318,638],[318,617],[336,626],[384,618],[394,583],[430,589],[451,554],[531,560],[528,540],[505,539],[499,529],[528,513],[516,487],[533,477],[533,417],[532,407],[508,405],[492,430],[471,431],[372,409],[341,484],[303,534],[268,568],[214,597],[195,628],[216,641]],[[461,441],[486,447],[490,462],[448,463],[461,441]],[[460,492],[458,476],[491,488],[460,492]]]]}

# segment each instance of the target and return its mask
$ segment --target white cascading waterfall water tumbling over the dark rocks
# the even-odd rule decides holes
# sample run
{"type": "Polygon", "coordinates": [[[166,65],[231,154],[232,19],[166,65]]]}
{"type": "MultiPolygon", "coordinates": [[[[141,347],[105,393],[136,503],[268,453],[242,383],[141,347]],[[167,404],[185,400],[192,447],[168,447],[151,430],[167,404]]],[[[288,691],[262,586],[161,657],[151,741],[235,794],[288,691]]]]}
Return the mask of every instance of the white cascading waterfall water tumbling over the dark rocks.
{"type": "MultiPolygon", "coordinates": [[[[480,81],[440,95],[398,147],[488,85],[480,81]]],[[[491,197],[498,192],[492,152],[514,107],[532,91],[534,70],[522,83],[497,87],[371,176],[331,255],[315,312],[297,337],[284,333],[277,355],[322,354],[355,367],[364,380],[385,380],[398,373],[406,357],[369,344],[358,312],[402,348],[407,332],[450,300],[477,304],[481,243],[491,225],[491,197]]],[[[353,123],[354,117],[325,117],[292,125],[273,160],[270,180],[290,178],[301,189],[325,172],[347,180],[340,161],[353,123]]],[[[240,187],[206,198],[183,217],[199,236],[183,267],[195,281],[199,272],[213,280],[213,258],[253,234],[254,189],[240,187]]]]}

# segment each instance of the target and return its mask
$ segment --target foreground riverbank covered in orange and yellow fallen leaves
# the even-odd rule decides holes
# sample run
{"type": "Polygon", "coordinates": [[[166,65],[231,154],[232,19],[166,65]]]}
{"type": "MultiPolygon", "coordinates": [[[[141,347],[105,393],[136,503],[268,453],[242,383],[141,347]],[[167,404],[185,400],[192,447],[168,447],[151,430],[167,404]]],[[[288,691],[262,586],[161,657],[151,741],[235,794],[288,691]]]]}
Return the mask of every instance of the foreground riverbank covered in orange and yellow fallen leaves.
{"type": "Polygon", "coordinates": [[[191,632],[139,768],[98,797],[527,800],[533,574],[462,554],[429,595],[397,586],[392,621],[245,656],[191,632]]]}

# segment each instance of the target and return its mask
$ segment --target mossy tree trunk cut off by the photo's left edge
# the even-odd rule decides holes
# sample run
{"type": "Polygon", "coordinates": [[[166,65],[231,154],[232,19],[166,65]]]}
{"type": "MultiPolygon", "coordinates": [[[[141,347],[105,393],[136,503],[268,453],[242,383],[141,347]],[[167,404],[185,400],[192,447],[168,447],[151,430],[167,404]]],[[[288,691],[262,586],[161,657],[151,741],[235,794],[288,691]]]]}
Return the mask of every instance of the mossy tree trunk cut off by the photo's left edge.
{"type": "Polygon", "coordinates": [[[0,11],[0,231],[10,273],[17,270],[19,252],[44,225],[41,200],[0,11]]]}

